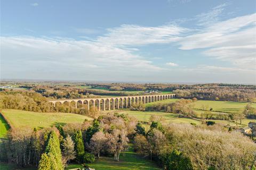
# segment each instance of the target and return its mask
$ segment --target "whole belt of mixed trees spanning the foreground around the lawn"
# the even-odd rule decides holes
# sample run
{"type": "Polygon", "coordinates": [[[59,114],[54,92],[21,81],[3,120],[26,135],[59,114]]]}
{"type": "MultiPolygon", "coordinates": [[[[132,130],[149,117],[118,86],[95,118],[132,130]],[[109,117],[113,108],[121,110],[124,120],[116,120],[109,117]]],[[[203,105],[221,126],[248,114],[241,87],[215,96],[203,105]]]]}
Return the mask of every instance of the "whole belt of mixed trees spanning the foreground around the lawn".
{"type": "Polygon", "coordinates": [[[119,155],[132,142],[135,151],[164,169],[255,166],[255,143],[239,132],[218,125],[165,125],[157,116],[150,120],[148,131],[134,117],[123,114],[51,129],[12,129],[2,143],[1,159],[38,169],[63,169],[69,163],[91,163],[103,155],[119,161],[119,155]]]}

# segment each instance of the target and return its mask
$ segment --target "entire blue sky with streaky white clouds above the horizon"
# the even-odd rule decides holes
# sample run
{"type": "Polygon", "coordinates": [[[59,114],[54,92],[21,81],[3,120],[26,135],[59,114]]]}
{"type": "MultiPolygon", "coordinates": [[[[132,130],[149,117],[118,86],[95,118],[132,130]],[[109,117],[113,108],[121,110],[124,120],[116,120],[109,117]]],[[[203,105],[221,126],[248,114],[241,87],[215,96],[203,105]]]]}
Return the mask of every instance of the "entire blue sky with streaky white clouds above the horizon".
{"type": "Polygon", "coordinates": [[[1,79],[256,83],[255,1],[1,1],[1,79]]]}

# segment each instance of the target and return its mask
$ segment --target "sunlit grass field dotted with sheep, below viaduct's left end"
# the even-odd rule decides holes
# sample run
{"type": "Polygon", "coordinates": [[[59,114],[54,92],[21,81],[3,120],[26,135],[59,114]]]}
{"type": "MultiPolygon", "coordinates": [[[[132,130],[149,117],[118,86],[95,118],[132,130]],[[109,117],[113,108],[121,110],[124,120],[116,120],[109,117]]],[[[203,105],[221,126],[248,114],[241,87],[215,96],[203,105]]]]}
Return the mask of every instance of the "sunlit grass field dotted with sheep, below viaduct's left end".
{"type": "Polygon", "coordinates": [[[39,113],[15,109],[3,109],[1,113],[14,128],[50,128],[55,124],[83,123],[85,118],[92,120],[91,117],[73,113],[39,113]]]}

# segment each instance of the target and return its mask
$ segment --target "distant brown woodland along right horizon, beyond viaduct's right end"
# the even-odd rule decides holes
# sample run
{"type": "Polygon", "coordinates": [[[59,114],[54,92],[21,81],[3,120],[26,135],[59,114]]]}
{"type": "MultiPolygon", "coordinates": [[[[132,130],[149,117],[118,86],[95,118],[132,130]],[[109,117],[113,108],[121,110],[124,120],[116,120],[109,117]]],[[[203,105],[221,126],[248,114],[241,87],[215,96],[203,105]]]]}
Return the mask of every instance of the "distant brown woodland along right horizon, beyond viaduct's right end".
{"type": "Polygon", "coordinates": [[[111,90],[159,90],[173,91],[179,98],[193,98],[204,100],[231,100],[231,101],[253,101],[256,98],[256,86],[244,84],[90,84],[97,88],[103,87],[111,90]]]}

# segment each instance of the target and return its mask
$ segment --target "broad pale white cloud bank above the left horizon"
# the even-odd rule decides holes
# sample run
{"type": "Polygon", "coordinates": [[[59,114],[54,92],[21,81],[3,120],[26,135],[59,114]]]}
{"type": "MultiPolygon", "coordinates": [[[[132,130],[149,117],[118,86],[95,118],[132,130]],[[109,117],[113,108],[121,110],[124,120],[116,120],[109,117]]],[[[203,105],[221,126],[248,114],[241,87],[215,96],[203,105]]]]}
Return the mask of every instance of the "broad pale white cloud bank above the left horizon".
{"type": "Polygon", "coordinates": [[[27,76],[36,73],[41,75],[43,71],[46,72],[45,76],[54,76],[52,72],[62,79],[70,78],[69,73],[74,73],[75,77],[84,79],[104,77],[115,80],[127,74],[138,76],[163,70],[151,61],[132,54],[130,50],[71,39],[2,37],[1,56],[1,73],[4,77],[18,75],[26,70],[27,76]],[[18,72],[13,73],[11,67],[15,67],[18,72]]]}

